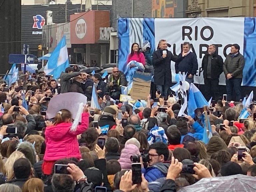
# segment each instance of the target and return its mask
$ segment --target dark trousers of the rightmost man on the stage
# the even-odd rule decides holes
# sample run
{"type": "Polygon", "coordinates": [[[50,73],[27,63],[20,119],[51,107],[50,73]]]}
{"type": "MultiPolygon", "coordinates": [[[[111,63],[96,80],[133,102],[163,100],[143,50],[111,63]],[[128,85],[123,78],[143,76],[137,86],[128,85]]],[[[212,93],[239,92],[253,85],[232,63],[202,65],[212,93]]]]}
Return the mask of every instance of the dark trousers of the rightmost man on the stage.
{"type": "Polygon", "coordinates": [[[226,89],[227,89],[228,101],[232,100],[233,89],[235,90],[235,93],[236,93],[235,101],[239,101],[240,99],[242,99],[241,83],[242,83],[242,79],[240,79],[240,78],[226,79],[226,89]]]}

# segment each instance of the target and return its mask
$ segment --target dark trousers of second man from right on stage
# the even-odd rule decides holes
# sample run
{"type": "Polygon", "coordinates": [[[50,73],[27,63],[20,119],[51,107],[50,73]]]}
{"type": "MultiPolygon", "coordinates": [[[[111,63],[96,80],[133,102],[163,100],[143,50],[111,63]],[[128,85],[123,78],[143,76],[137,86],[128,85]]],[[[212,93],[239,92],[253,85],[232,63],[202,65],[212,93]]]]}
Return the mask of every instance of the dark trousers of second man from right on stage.
{"type": "Polygon", "coordinates": [[[219,100],[219,79],[204,79],[205,99],[219,100]]]}

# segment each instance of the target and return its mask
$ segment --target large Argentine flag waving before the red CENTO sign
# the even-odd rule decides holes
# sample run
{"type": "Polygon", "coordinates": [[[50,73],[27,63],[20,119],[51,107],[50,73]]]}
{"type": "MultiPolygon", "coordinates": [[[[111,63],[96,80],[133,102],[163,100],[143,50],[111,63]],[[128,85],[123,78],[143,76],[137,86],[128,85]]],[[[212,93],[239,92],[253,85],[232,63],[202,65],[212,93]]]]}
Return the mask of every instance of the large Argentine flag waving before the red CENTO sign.
{"type": "Polygon", "coordinates": [[[44,72],[46,75],[53,75],[54,79],[58,79],[61,72],[64,72],[67,67],[69,67],[69,58],[66,37],[64,36],[52,52],[44,72]]]}

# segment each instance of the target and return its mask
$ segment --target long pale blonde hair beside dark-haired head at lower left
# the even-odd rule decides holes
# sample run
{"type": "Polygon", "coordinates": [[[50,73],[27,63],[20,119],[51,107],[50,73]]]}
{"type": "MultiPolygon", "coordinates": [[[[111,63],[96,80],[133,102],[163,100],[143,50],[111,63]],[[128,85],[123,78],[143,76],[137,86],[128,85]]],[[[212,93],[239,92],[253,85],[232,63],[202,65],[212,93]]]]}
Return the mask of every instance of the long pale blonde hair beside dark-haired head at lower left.
{"type": "Polygon", "coordinates": [[[10,181],[14,177],[13,164],[17,159],[26,158],[25,155],[20,151],[14,151],[5,162],[6,178],[10,181]]]}

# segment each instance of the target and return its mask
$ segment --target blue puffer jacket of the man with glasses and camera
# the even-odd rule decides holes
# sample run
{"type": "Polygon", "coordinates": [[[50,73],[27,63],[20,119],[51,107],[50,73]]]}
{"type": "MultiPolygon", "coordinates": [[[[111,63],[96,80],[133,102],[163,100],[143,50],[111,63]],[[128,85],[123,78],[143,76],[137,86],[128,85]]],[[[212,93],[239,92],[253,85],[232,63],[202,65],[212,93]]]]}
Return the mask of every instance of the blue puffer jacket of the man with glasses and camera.
{"type": "Polygon", "coordinates": [[[142,169],[145,179],[148,182],[153,182],[159,178],[166,177],[170,162],[155,163],[146,169],[142,169]]]}

